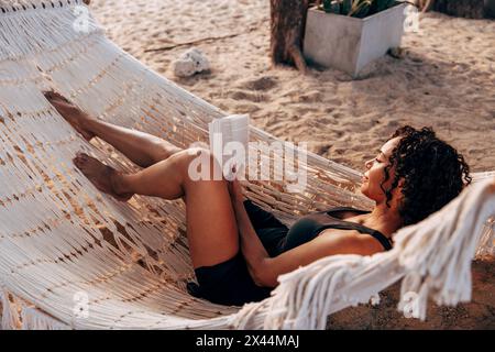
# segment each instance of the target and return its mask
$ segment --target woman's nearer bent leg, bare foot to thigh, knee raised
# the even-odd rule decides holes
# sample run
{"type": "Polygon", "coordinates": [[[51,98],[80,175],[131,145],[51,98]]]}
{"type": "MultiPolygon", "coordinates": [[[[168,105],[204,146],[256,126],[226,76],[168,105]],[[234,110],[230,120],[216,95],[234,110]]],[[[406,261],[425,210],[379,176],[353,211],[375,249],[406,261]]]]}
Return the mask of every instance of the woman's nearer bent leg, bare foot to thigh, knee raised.
{"type": "Polygon", "coordinates": [[[74,162],[100,190],[113,196],[183,197],[195,268],[216,265],[239,252],[238,227],[227,180],[212,180],[216,162],[208,151],[185,150],[132,175],[121,174],[86,154],[78,154],[74,162]],[[190,178],[189,163],[196,157],[202,157],[201,165],[210,166],[210,180],[190,178]]]}

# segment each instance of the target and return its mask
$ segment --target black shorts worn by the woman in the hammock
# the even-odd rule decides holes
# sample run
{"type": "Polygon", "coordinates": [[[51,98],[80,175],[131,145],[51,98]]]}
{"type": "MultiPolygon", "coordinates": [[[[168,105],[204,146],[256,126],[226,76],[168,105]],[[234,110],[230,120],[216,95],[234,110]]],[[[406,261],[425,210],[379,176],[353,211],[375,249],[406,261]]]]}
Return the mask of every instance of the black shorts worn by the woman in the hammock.
{"type": "MultiPolygon", "coordinates": [[[[288,228],[251,200],[244,201],[244,208],[266,252],[271,256],[280,254],[288,228]]],[[[254,284],[241,251],[226,262],[198,267],[195,273],[199,285],[188,283],[189,293],[220,305],[242,306],[250,301],[260,301],[270,297],[272,292],[272,288],[254,284]]]]}

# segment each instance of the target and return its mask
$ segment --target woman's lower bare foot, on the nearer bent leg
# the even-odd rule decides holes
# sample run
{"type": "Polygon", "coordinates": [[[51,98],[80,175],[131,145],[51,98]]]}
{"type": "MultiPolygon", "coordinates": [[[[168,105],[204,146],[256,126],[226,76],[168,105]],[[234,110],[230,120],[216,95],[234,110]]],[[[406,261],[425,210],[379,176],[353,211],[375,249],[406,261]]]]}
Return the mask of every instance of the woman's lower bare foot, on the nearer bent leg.
{"type": "Polygon", "coordinates": [[[99,190],[105,191],[121,201],[128,201],[133,196],[133,194],[130,193],[119,193],[118,185],[119,177],[121,177],[119,173],[95,157],[91,157],[86,153],[77,153],[74,158],[74,164],[99,190]]]}

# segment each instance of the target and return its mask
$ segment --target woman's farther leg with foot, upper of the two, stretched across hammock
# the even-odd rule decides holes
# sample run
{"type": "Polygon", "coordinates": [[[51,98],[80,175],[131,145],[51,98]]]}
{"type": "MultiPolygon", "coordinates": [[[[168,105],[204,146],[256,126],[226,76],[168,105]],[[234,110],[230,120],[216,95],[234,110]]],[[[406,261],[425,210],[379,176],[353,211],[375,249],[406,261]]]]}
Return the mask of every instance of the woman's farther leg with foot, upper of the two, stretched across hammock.
{"type": "Polygon", "coordinates": [[[141,167],[153,165],[182,151],[155,135],[92,119],[56,92],[46,92],[45,97],[86,140],[98,136],[141,167]]]}

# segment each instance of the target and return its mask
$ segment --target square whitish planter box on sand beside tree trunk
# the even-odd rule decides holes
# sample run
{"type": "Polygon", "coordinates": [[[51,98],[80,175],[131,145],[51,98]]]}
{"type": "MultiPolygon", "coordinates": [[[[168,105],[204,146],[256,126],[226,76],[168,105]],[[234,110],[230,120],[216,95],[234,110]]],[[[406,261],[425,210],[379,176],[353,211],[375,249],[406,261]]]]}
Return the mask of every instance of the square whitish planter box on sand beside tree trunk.
{"type": "Polygon", "coordinates": [[[341,69],[352,77],[400,45],[406,4],[400,3],[364,19],[308,11],[304,54],[309,62],[341,69]]]}

